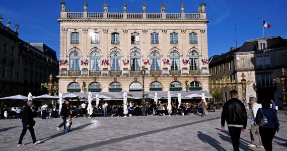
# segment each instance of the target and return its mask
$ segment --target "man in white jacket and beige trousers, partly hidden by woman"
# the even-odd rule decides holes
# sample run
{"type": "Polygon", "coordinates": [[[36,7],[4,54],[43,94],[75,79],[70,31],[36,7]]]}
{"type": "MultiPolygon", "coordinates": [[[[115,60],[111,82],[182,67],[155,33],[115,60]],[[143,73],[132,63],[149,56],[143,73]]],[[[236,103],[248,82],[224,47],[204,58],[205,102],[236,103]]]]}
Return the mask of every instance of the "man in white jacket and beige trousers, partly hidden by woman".
{"type": "Polygon", "coordinates": [[[257,114],[257,111],[259,108],[262,108],[261,104],[256,103],[256,98],[255,97],[250,97],[249,98],[249,102],[251,104],[251,117],[250,117],[250,124],[251,124],[251,128],[250,128],[250,138],[251,138],[251,144],[248,144],[248,147],[259,147],[259,148],[263,148],[263,144],[261,141],[261,137],[260,137],[260,133],[259,133],[259,125],[258,123],[255,122],[255,117],[257,114]],[[258,133],[258,137],[259,137],[259,145],[255,144],[255,132],[258,133]]]}

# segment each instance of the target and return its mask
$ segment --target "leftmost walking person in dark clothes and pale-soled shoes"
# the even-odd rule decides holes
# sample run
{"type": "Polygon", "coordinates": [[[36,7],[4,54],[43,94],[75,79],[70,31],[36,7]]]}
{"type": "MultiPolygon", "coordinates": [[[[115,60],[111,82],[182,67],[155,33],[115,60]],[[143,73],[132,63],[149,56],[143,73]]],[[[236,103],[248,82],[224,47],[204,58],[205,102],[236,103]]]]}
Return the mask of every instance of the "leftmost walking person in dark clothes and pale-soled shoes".
{"type": "Polygon", "coordinates": [[[36,122],[33,119],[33,113],[32,113],[32,109],[31,109],[32,105],[33,105],[33,102],[28,101],[27,106],[23,109],[23,117],[22,117],[23,129],[22,129],[22,133],[21,133],[20,138],[19,138],[18,146],[23,145],[22,140],[23,140],[24,135],[27,132],[27,129],[29,129],[29,131],[31,133],[31,136],[33,139],[33,144],[37,144],[37,143],[41,142],[40,140],[37,141],[36,136],[35,136],[35,132],[34,132],[34,128],[33,128],[33,126],[35,126],[36,122]]]}

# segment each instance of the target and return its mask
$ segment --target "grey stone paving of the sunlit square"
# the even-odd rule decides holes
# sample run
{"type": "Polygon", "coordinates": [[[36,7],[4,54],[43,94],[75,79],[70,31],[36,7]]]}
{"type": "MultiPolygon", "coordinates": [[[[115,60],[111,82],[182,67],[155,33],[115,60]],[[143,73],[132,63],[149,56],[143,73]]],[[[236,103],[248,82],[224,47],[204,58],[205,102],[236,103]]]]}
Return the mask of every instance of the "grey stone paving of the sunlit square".
{"type": "MultiPolygon", "coordinates": [[[[278,112],[280,131],[273,139],[273,150],[286,150],[285,112],[278,112]]],[[[250,112],[248,112],[250,116],[250,112]]],[[[62,120],[35,118],[37,140],[27,131],[23,143],[17,146],[22,131],[21,120],[0,120],[1,150],[233,150],[228,131],[220,130],[221,111],[211,112],[206,117],[148,116],[148,117],[80,117],[73,118],[72,130],[57,131],[62,120]]],[[[250,119],[248,119],[250,120],[250,119]]],[[[241,150],[264,150],[249,148],[250,124],[241,133],[241,150]]],[[[255,143],[258,142],[256,137],[255,143]]]]}

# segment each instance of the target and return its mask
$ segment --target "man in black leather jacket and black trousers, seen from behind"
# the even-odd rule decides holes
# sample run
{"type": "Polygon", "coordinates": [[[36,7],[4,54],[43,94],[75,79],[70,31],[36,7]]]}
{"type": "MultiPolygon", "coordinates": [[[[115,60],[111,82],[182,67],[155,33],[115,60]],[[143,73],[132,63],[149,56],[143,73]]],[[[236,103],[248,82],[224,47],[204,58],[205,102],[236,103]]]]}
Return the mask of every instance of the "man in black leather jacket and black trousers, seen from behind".
{"type": "Polygon", "coordinates": [[[247,113],[244,104],[238,100],[235,90],[230,91],[231,99],[224,104],[221,114],[221,129],[225,129],[225,121],[232,140],[233,150],[239,150],[241,131],[246,131],[247,113]]]}

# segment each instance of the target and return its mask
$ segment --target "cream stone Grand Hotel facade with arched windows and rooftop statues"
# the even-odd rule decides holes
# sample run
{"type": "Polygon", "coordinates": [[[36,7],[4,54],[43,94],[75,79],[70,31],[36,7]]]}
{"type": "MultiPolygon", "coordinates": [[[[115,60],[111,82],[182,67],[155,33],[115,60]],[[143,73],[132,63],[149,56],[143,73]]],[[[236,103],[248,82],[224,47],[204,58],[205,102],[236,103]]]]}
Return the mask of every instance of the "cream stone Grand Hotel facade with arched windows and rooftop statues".
{"type": "Polygon", "coordinates": [[[59,92],[208,91],[205,4],[198,13],[67,12],[61,3],[59,92]],[[62,63],[61,63],[62,62],[62,63]]]}

